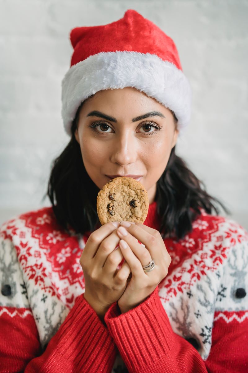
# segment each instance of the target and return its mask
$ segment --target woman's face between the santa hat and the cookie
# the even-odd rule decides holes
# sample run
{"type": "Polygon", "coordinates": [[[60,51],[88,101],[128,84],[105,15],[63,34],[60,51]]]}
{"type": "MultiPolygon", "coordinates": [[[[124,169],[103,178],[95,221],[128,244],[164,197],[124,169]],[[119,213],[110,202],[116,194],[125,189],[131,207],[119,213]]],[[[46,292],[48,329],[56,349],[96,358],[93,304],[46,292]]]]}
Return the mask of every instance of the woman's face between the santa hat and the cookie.
{"type": "Polygon", "coordinates": [[[170,110],[131,87],[86,100],[75,131],[85,169],[99,189],[114,175],[142,175],[149,204],[177,136],[170,110]]]}

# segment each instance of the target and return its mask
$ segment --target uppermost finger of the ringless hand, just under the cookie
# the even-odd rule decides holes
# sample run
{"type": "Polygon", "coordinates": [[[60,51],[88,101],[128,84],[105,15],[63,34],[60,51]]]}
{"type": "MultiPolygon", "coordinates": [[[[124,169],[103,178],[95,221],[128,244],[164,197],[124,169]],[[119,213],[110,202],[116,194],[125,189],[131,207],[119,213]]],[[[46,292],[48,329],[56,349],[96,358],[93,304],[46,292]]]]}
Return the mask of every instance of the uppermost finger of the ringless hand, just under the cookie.
{"type": "Polygon", "coordinates": [[[119,224],[119,222],[109,222],[92,232],[84,247],[84,258],[87,260],[92,259],[104,238],[108,237],[112,232],[114,232],[119,224]],[[113,223],[117,223],[116,226],[113,225],[113,223]]]}

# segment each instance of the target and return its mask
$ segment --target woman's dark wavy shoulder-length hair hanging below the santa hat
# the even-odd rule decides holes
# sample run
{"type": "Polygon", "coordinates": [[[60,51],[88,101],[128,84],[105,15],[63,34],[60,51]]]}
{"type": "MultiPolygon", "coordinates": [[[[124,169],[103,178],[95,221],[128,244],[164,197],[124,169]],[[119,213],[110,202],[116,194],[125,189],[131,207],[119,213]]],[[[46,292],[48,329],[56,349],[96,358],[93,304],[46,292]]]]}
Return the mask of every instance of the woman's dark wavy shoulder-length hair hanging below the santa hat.
{"type": "MultiPolygon", "coordinates": [[[[80,145],[75,139],[80,109],[85,101],[78,107],[75,115],[71,127],[71,140],[52,163],[46,192],[59,225],[65,231],[72,228],[75,233],[82,235],[100,227],[96,209],[99,188],[86,172],[80,145]]],[[[177,118],[173,111],[171,113],[176,128],[177,118]]],[[[191,232],[192,222],[201,214],[200,209],[208,214],[218,215],[219,204],[227,214],[230,214],[217,198],[207,194],[204,183],[198,180],[186,162],[175,154],[175,146],[157,182],[155,201],[163,238],[173,237],[178,240],[191,232]]]]}

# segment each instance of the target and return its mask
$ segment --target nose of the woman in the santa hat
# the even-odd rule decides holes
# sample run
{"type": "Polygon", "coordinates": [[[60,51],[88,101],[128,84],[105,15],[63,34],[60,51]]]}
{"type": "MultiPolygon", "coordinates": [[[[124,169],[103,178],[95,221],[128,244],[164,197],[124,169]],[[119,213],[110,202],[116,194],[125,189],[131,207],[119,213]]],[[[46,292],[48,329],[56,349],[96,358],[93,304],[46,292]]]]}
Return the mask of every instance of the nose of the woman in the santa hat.
{"type": "Polygon", "coordinates": [[[132,131],[123,131],[115,136],[111,145],[111,162],[122,166],[134,163],[137,157],[137,143],[132,131]]]}

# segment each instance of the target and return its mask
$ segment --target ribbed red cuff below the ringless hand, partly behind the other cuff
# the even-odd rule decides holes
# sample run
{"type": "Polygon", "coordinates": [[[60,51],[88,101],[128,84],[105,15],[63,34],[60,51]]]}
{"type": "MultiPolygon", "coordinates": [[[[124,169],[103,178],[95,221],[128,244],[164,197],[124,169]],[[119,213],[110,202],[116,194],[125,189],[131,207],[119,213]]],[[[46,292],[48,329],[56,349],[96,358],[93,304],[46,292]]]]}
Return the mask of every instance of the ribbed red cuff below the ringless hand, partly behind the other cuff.
{"type": "Polygon", "coordinates": [[[31,364],[34,372],[111,372],[116,353],[108,329],[81,294],[44,354],[31,364]]]}

